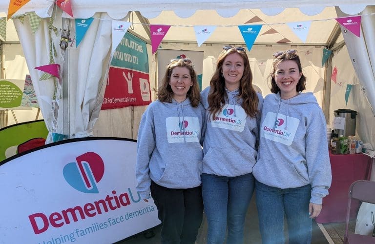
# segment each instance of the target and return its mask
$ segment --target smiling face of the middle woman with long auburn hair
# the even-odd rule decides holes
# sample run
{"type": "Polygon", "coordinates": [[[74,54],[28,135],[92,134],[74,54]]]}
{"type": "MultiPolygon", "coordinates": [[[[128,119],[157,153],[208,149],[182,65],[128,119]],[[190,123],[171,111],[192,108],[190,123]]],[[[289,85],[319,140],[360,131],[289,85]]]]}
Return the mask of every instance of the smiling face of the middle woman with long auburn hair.
{"type": "Polygon", "coordinates": [[[229,54],[225,58],[221,71],[225,80],[225,87],[229,91],[234,91],[240,87],[244,70],[244,59],[238,53],[229,54]]]}

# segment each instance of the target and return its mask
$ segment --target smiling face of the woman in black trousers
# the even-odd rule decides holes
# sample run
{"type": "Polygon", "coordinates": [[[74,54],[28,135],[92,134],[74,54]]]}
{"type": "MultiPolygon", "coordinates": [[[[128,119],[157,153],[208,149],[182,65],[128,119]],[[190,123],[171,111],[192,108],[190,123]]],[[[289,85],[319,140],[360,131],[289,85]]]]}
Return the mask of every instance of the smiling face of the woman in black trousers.
{"type": "Polygon", "coordinates": [[[189,69],[187,67],[174,67],[168,83],[172,88],[174,100],[183,102],[192,85],[189,69]]]}

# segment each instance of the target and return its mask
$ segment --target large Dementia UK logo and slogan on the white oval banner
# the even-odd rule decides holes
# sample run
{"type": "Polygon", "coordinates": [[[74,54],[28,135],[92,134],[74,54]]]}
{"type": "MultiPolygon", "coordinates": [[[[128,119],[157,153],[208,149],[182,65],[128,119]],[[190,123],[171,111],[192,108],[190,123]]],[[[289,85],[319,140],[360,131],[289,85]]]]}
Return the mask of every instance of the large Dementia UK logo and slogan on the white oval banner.
{"type": "MultiPolygon", "coordinates": [[[[69,185],[74,189],[83,193],[99,193],[97,183],[99,183],[103,178],[104,162],[98,154],[94,152],[86,152],[78,156],[76,158],[76,162],[67,163],[62,170],[62,174],[66,182],[69,183],[69,185]]],[[[53,210],[51,213],[37,212],[30,214],[28,218],[34,233],[38,235],[47,231],[51,226],[60,228],[64,225],[80,222],[86,218],[92,218],[95,216],[98,217],[99,215],[107,212],[110,213],[118,208],[126,207],[131,203],[138,203],[141,201],[141,196],[138,192],[135,196],[137,195],[137,199],[134,199],[133,192],[130,188],[127,188],[127,191],[123,193],[116,193],[115,190],[112,190],[106,196],[104,195],[101,197],[103,199],[89,203],[82,203],[80,205],[77,203],[71,203],[73,206],[70,207],[62,207],[56,203],[56,207],[64,209],[53,210]]],[[[82,199],[83,198],[79,200],[82,199]]],[[[38,209],[42,208],[39,207],[38,209]]],[[[137,214],[137,217],[138,215],[146,214],[150,211],[154,211],[154,207],[148,205],[148,207],[142,208],[133,213],[129,213],[129,215],[132,214],[133,216],[133,214],[137,214]]],[[[125,215],[120,218],[128,220],[129,218],[133,217],[125,215]]],[[[89,230],[88,233],[107,228],[108,226],[111,226],[112,222],[113,220],[108,218],[108,224],[101,224],[100,226],[98,225],[99,227],[95,226],[95,228],[89,230]]],[[[123,222],[123,220],[121,220],[121,222],[123,222]]],[[[78,230],[79,229],[76,229],[77,237],[87,234],[85,233],[79,235],[78,230]]],[[[74,233],[72,235],[74,236],[74,233]]]]}

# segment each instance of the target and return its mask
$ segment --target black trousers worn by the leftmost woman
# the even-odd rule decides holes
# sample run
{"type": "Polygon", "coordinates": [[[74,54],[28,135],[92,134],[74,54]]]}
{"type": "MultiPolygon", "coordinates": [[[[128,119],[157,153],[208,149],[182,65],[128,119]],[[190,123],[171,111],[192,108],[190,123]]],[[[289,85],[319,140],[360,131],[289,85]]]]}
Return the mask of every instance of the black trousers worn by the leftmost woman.
{"type": "Polygon", "coordinates": [[[171,189],[151,182],[151,196],[162,222],[162,244],[194,244],[203,218],[201,186],[171,189]]]}

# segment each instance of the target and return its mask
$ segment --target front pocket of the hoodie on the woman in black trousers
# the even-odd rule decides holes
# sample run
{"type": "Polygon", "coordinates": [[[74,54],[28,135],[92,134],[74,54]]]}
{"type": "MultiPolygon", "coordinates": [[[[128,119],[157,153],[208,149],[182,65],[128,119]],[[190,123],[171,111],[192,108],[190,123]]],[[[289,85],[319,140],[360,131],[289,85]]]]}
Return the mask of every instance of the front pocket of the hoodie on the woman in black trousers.
{"type": "Polygon", "coordinates": [[[168,188],[192,188],[201,184],[202,160],[180,159],[167,163],[157,183],[168,188]]]}

